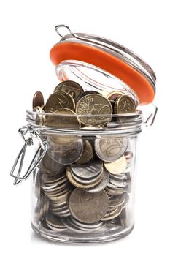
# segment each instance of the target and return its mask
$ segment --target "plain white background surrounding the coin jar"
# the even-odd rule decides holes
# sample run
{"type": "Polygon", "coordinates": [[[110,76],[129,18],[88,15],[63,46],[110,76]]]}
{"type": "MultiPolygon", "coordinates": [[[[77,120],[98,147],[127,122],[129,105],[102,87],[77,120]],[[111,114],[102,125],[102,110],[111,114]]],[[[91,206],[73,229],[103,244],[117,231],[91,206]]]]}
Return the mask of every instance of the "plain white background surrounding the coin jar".
{"type": "Polygon", "coordinates": [[[8,1],[0,2],[1,255],[169,255],[169,1],[8,1]],[[147,61],[157,75],[155,125],[139,140],[136,225],[130,236],[98,245],[55,244],[30,226],[30,184],[12,186],[9,170],[22,140],[25,109],[41,90],[57,84],[50,48],[54,27],[101,35],[120,42],[147,61]]]}

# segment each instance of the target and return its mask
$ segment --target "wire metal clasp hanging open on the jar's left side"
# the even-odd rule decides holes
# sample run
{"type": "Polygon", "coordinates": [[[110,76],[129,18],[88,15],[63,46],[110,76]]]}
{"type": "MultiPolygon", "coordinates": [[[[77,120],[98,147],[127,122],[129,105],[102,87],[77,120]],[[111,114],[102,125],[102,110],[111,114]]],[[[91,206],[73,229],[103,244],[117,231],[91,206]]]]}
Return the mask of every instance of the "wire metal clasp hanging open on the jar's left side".
{"type": "Polygon", "coordinates": [[[15,159],[14,165],[12,166],[12,170],[10,172],[10,175],[15,178],[14,185],[20,184],[21,181],[26,180],[31,173],[36,169],[37,165],[42,161],[42,158],[45,156],[45,153],[47,149],[49,148],[49,144],[47,141],[42,141],[42,139],[39,136],[39,133],[37,130],[31,129],[31,127],[21,127],[18,132],[22,136],[23,140],[25,141],[23,148],[21,148],[17,158],[15,159]],[[26,138],[27,137],[27,138],[26,138]],[[28,167],[28,170],[26,170],[26,173],[23,176],[20,176],[20,173],[23,168],[23,160],[26,154],[26,149],[28,146],[34,145],[33,138],[38,138],[39,140],[39,148],[36,151],[36,154],[34,154],[33,159],[31,160],[31,164],[28,167]],[[41,151],[41,152],[40,152],[41,151]],[[38,157],[38,160],[36,161],[36,157],[38,157]],[[18,168],[17,175],[14,174],[15,168],[18,165],[18,161],[20,160],[20,165],[18,168]]]}

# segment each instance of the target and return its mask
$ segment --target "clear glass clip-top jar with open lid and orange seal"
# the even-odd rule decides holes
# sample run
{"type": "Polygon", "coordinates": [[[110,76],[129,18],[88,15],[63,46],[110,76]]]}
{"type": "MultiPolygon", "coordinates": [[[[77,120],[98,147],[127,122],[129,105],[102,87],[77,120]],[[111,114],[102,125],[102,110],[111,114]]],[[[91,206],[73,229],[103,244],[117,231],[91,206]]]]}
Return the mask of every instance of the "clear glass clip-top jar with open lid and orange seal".
{"type": "MultiPolygon", "coordinates": [[[[60,35],[62,26],[55,28],[60,35]]],[[[138,108],[152,102],[155,74],[135,53],[101,37],[69,32],[50,51],[61,81],[74,80],[85,91],[103,94],[122,91],[138,108]]],[[[28,125],[19,130],[25,143],[11,175],[19,184],[33,173],[34,231],[66,243],[101,243],[131,233],[137,138],[144,124],[152,125],[156,111],[144,120],[141,110],[108,116],[96,108],[90,116],[77,115],[89,124],[77,127],[75,116],[64,116],[63,122],[63,115],[27,110],[28,125]],[[47,116],[57,120],[55,127],[47,125],[47,116]],[[34,157],[22,176],[25,153],[33,144],[34,157]]]]}

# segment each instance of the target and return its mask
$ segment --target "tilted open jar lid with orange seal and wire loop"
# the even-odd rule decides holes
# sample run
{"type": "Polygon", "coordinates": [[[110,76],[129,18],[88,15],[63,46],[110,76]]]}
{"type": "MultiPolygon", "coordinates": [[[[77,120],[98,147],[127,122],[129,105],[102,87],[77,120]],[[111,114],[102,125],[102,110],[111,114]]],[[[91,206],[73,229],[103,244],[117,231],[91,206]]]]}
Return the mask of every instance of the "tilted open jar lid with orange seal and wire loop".
{"type": "MultiPolygon", "coordinates": [[[[139,56],[128,48],[103,37],[74,34],[70,29],[69,34],[62,36],[58,31],[61,27],[69,29],[65,25],[55,27],[61,36],[61,41],[50,50],[50,59],[56,67],[71,60],[80,61],[86,67],[88,64],[92,65],[102,69],[106,75],[109,74],[122,81],[132,94],[133,92],[136,94],[138,104],[147,105],[152,102],[155,97],[155,73],[139,56]]],[[[64,69],[60,69],[59,76],[64,80],[62,72],[65,72],[64,69]]],[[[68,76],[66,79],[69,79],[68,76]]]]}

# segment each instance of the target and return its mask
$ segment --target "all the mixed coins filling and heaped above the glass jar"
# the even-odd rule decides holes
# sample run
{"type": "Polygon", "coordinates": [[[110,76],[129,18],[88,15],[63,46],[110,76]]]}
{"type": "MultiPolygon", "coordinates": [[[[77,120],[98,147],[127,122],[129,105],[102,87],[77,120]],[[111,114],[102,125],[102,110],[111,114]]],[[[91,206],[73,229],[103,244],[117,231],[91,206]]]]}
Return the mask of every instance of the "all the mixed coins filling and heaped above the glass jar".
{"type": "MultiPolygon", "coordinates": [[[[33,107],[45,112],[37,121],[56,129],[103,127],[114,113],[136,113],[134,100],[121,91],[106,96],[102,91],[84,91],[73,81],[60,83],[45,105],[37,92],[33,107]]],[[[50,147],[39,165],[42,227],[77,233],[125,227],[134,162],[131,140],[66,132],[53,132],[46,140],[50,147]]]]}

